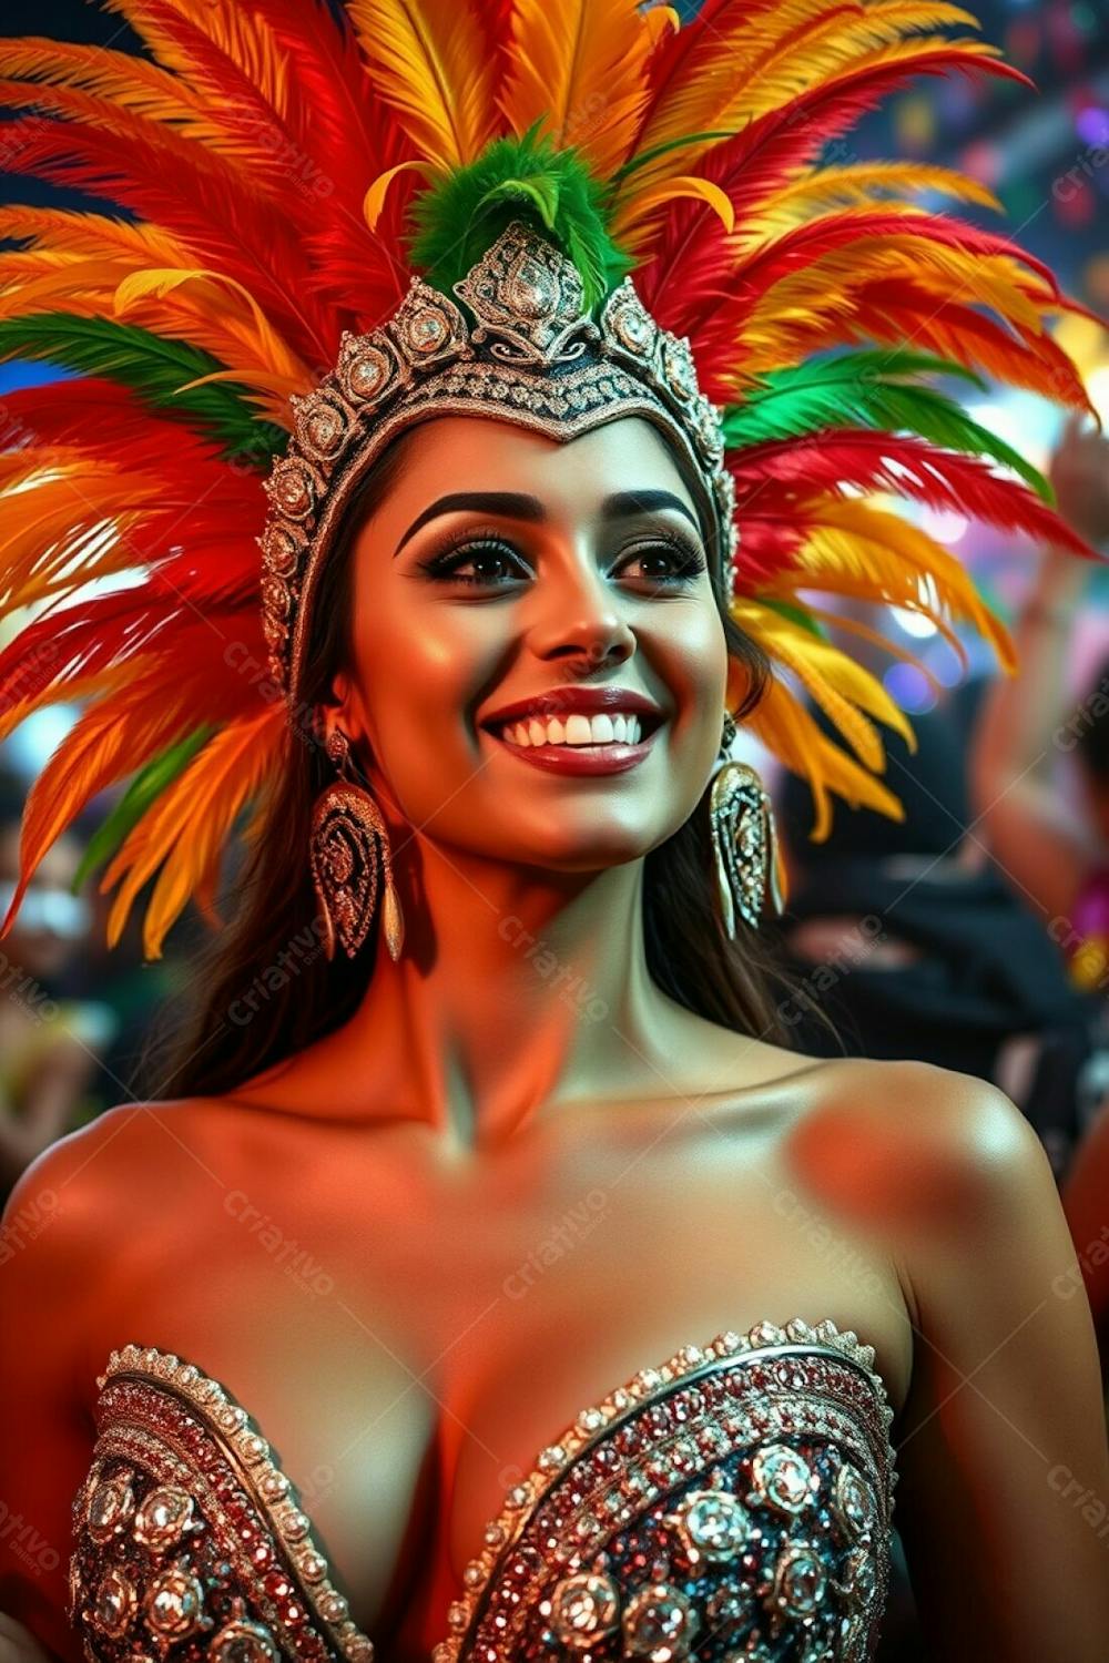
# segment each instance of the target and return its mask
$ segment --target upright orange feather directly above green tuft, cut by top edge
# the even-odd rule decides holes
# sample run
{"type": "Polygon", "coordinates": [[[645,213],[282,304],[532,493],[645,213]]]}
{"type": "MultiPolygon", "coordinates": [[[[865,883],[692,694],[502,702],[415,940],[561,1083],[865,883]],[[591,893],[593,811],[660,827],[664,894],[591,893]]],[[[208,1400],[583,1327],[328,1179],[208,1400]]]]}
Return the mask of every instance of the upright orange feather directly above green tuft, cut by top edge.
{"type": "Polygon", "coordinates": [[[517,0],[499,100],[510,131],[544,116],[555,145],[574,145],[607,178],[635,145],[658,28],[635,0],[517,0]]]}

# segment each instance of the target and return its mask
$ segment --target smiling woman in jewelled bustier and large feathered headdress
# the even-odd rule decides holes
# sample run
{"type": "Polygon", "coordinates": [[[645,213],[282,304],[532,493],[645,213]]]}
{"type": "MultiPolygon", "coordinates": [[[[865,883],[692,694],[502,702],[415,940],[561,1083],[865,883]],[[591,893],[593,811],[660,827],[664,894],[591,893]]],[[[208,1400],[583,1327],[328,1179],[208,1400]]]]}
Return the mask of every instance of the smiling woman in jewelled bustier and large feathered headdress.
{"type": "Polygon", "coordinates": [[[1082,406],[1051,274],[886,200],[969,181],[816,161],[1011,72],[943,5],[113,10],[146,57],[0,85],[15,166],[130,210],[0,221],[0,353],[76,371],[12,401],[0,615],[53,604],[0,703],[88,700],[12,915],[133,775],[111,938],[150,878],[151,956],[223,928],[150,1099],[12,1197],[0,1663],[868,1663],[898,1473],[946,1663],[1104,1663],[1046,1161],[993,1088],[790,1053],[730,753],[898,812],[820,590],[1006,650],[868,492],[1069,537],[929,384],[1082,406]]]}

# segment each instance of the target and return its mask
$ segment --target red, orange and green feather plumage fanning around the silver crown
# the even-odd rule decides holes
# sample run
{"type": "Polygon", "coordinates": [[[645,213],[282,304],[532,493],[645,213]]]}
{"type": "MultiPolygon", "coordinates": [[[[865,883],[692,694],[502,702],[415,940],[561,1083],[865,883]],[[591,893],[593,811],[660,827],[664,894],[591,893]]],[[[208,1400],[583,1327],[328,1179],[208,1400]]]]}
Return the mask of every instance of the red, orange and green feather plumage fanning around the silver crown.
{"type": "MultiPolygon", "coordinates": [[[[735,486],[732,612],[775,677],[753,732],[828,793],[898,813],[880,682],[806,595],[1006,632],[959,564],[876,491],[1091,550],[1044,481],[933,381],[1089,401],[1046,319],[1074,303],[1011,241],[923,208],[998,208],[924,163],[823,165],[916,73],[1026,81],[944,0],[705,0],[678,27],[633,0],[108,0],[148,58],[5,42],[3,165],[126,211],[3,206],[0,358],[76,374],[7,394],[0,738],[83,715],[35,782],[23,886],[85,803],[130,778],[88,850],[118,885],[108,940],[155,878],[145,951],[283,765],[266,680],[263,482],[346,331],[411,276],[444,293],[515,218],[592,303],[633,271],[687,338],[735,486]],[[953,33],[954,32],[954,33],[953,33]],[[991,464],[1003,464],[996,472],[991,464]],[[1019,477],[1014,477],[1019,476],[1019,477]],[[108,580],[108,582],[105,582],[108,580]],[[828,740],[810,695],[850,750],[828,740]]],[[[861,625],[853,625],[861,629],[861,625]]]]}

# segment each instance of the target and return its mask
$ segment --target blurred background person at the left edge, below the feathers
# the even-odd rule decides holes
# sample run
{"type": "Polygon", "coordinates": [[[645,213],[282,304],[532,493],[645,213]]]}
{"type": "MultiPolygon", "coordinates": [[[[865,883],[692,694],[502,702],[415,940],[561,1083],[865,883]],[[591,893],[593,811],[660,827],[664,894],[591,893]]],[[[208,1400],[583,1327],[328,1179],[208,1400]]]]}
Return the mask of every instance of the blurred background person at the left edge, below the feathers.
{"type": "MultiPolygon", "coordinates": [[[[0,780],[0,901],[18,880],[22,792],[0,780]]],[[[73,836],[48,850],[0,950],[0,1192],[52,1142],[105,1104],[91,1091],[113,1033],[106,1004],[65,998],[65,973],[88,940],[90,905],[70,885],[81,856],[73,836]]]]}

